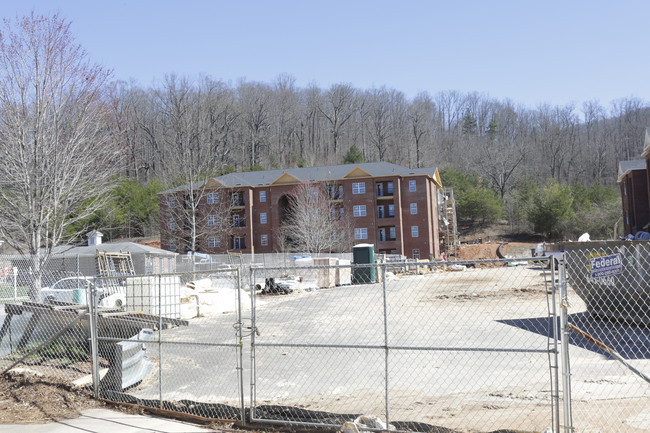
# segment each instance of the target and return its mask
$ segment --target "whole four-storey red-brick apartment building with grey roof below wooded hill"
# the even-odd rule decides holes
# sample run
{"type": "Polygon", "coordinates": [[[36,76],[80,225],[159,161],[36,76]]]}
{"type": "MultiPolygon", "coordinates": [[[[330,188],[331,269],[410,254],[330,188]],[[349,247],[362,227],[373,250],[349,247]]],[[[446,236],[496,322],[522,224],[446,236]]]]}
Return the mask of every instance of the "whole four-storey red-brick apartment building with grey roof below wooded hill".
{"type": "MultiPolygon", "coordinates": [[[[371,243],[377,252],[411,258],[440,257],[438,206],[443,201],[437,169],[386,162],[230,173],[196,185],[193,189],[201,191],[198,251],[280,251],[277,233],[286,221],[287,197],[305,183],[326,185],[329,200],[353,226],[354,244],[371,243]],[[228,220],[227,231],[219,229],[222,218],[228,220]]],[[[189,228],[176,209],[189,191],[184,186],[160,193],[164,249],[187,251],[189,228]]]]}

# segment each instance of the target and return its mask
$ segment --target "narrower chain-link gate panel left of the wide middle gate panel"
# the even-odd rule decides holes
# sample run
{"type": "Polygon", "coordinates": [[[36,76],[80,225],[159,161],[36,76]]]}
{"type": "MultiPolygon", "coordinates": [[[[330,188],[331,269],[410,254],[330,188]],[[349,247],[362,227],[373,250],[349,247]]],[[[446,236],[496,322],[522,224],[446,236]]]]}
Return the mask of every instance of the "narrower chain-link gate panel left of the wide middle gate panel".
{"type": "Polygon", "coordinates": [[[95,283],[94,296],[107,295],[102,287],[120,287],[126,310],[93,309],[97,395],[205,418],[245,419],[242,306],[250,301],[242,299],[238,269],[95,283]]]}

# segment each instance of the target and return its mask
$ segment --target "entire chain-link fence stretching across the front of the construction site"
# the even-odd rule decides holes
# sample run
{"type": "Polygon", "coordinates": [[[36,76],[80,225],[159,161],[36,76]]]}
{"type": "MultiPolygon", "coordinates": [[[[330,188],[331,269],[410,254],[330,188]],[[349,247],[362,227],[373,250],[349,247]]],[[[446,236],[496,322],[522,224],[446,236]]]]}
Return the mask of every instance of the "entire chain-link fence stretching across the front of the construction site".
{"type": "Polygon", "coordinates": [[[89,278],[66,264],[47,302],[11,286],[0,369],[245,422],[650,431],[647,247],[588,247],[559,272],[548,259],[322,259],[89,278]]]}

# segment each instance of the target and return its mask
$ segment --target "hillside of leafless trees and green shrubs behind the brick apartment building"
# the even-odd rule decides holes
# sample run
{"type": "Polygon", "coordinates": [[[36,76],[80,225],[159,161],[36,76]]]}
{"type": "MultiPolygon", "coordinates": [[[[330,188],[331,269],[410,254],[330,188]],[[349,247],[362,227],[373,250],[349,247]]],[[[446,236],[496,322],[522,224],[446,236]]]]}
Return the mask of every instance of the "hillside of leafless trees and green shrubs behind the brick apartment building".
{"type": "MultiPolygon", "coordinates": [[[[409,99],[384,87],[301,88],[288,75],[236,84],[169,75],[151,87],[118,83],[111,99],[115,140],[126,155],[123,176],[155,182],[150,192],[231,171],[360,160],[435,166],[459,189],[461,219],[505,217],[514,231],[549,237],[582,231],[570,227],[602,214],[603,206],[605,219],[595,224],[602,236],[611,234],[620,214],[618,161],[640,156],[650,125],[650,107],[633,97],[530,108],[516,95],[497,100],[448,90],[409,99]],[[558,204],[556,196],[567,194],[570,200],[558,204]],[[536,206],[561,209],[559,216],[539,215],[536,206]],[[549,219],[553,228],[535,222],[549,219]]],[[[129,196],[124,188],[121,203],[129,196]]],[[[136,234],[155,230],[155,215],[146,218],[154,206],[133,211],[137,217],[127,211],[122,224],[136,234]]]]}

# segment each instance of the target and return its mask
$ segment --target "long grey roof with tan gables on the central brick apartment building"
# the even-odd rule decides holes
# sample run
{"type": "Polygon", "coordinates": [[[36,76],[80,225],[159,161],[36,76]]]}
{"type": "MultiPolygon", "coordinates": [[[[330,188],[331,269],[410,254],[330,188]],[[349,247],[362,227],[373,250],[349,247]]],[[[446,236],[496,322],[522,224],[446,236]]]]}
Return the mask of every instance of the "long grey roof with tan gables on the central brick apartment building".
{"type": "MultiPolygon", "coordinates": [[[[389,162],[364,162],[359,164],[326,165],[321,167],[287,168],[280,170],[246,171],[224,174],[208,180],[208,184],[227,188],[242,186],[260,187],[280,183],[298,182],[326,182],[350,178],[381,177],[381,176],[429,176],[439,186],[440,176],[438,169],[429,168],[407,168],[389,162]]],[[[199,188],[203,182],[194,184],[199,188]]],[[[188,186],[180,186],[161,194],[187,190],[188,186]]]]}

